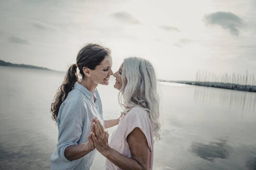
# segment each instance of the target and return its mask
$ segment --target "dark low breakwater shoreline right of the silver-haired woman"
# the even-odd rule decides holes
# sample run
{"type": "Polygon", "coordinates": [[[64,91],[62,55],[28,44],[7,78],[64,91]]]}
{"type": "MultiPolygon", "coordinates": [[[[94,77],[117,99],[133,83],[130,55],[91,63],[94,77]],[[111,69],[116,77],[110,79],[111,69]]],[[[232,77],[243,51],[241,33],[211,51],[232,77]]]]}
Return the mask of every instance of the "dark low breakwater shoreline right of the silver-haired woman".
{"type": "Polygon", "coordinates": [[[223,83],[223,82],[208,82],[208,81],[175,81],[175,80],[158,80],[160,82],[175,82],[182,84],[190,84],[195,86],[204,86],[220,89],[238,90],[246,92],[256,92],[256,86],[233,84],[233,83],[223,83]]]}

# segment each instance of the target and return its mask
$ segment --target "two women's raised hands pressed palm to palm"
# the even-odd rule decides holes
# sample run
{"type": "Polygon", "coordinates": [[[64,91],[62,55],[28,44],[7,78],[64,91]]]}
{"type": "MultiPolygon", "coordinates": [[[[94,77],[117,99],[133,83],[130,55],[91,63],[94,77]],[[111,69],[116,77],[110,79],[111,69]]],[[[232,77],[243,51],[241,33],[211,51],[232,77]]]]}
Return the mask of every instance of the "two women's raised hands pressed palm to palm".
{"type": "Polygon", "coordinates": [[[89,143],[103,155],[107,154],[110,149],[108,145],[108,131],[104,129],[97,118],[93,118],[91,125],[91,133],[88,135],[89,143]]]}

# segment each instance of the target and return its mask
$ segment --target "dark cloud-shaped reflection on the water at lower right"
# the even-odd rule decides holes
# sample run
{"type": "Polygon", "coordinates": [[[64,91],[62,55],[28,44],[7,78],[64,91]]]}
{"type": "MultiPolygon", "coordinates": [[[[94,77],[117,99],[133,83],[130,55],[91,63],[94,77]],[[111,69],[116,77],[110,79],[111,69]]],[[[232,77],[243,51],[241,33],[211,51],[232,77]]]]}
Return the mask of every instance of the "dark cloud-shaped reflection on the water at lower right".
{"type": "Polygon", "coordinates": [[[191,152],[195,153],[198,157],[214,162],[215,159],[227,159],[231,146],[227,145],[225,139],[220,139],[217,142],[210,142],[210,144],[202,144],[192,142],[191,152]]]}

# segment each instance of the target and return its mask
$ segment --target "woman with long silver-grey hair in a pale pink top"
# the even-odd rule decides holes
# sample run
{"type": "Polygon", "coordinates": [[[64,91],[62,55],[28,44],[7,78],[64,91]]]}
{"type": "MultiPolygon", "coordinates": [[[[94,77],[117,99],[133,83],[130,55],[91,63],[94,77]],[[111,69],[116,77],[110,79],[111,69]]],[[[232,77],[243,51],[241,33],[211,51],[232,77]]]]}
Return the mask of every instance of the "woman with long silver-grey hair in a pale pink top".
{"type": "Polygon", "coordinates": [[[152,169],[153,138],[160,138],[155,71],[147,60],[127,58],[114,77],[124,115],[109,144],[100,121],[92,123],[94,146],[107,158],[106,169],[152,169]]]}

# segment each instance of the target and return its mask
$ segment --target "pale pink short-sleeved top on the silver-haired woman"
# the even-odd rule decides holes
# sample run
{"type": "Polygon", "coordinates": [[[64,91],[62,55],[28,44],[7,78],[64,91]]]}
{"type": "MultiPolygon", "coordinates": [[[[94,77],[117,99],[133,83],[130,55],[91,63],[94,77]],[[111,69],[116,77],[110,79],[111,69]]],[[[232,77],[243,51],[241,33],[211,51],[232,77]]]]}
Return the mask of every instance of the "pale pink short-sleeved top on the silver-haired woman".
{"type": "MultiPolygon", "coordinates": [[[[113,131],[109,146],[125,157],[132,158],[129,144],[126,140],[127,136],[135,129],[139,129],[147,138],[148,147],[150,149],[150,169],[153,166],[153,129],[146,110],[141,107],[133,107],[119,121],[117,128],[113,131]]],[[[107,170],[120,169],[108,159],[106,159],[105,167],[107,170]]]]}

